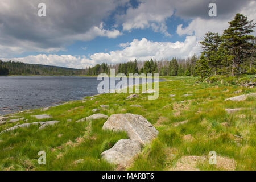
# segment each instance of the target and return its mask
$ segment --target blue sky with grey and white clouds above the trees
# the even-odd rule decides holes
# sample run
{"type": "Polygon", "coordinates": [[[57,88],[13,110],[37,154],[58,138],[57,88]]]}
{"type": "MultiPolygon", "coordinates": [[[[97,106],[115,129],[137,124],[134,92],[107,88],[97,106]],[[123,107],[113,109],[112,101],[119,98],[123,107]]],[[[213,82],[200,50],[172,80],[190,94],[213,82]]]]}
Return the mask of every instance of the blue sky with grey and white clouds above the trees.
{"type": "Polygon", "coordinates": [[[256,19],[255,9],[255,0],[0,0],[0,60],[81,69],[186,58],[206,32],[222,34],[236,13],[256,19]]]}

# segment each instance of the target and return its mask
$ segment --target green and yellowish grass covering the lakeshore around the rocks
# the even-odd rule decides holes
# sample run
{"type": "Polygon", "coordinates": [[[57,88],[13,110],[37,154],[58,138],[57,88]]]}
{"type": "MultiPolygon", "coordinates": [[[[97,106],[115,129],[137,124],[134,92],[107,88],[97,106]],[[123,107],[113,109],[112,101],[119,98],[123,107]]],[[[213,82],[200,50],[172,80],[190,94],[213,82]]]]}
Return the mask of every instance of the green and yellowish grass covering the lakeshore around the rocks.
{"type": "MultiPolygon", "coordinates": [[[[51,107],[47,111],[32,110],[32,113],[16,113],[9,118],[24,117],[27,122],[36,122],[35,114],[50,114],[52,120],[60,121],[55,126],[38,130],[38,126],[17,129],[0,135],[0,170],[114,170],[117,166],[101,159],[101,152],[111,148],[127,134],[103,131],[105,119],[76,123],[78,119],[94,114],[92,109],[109,105],[97,113],[112,115],[133,113],[145,117],[159,130],[158,137],[144,146],[127,170],[169,170],[183,156],[205,156],[216,151],[217,156],[234,159],[236,170],[256,169],[255,97],[245,101],[224,101],[240,94],[254,93],[255,88],[237,85],[195,84],[194,77],[161,77],[159,98],[148,100],[148,94],[126,100],[127,94],[102,94],[86,102],[72,101],[51,107]],[[236,90],[241,93],[234,94],[236,90]],[[170,97],[170,94],[175,94],[170,97]],[[191,96],[183,96],[192,94],[191,96]],[[130,107],[137,104],[142,107],[130,107]],[[75,109],[74,109],[75,108],[75,109]],[[226,113],[226,108],[247,108],[236,113],[226,113]],[[67,121],[71,119],[71,121],[67,121]],[[174,123],[188,120],[174,127],[174,123]],[[223,123],[228,123],[223,125],[223,123]],[[192,140],[185,140],[192,135],[192,140]],[[238,137],[236,137],[238,136],[238,137]],[[38,152],[46,152],[46,165],[38,164],[38,152]],[[84,159],[77,163],[79,159],[84,159]]],[[[47,121],[44,119],[40,121],[47,121]]],[[[24,121],[19,122],[24,123],[24,121]]],[[[16,123],[0,125],[0,131],[16,123]]],[[[222,170],[206,163],[197,163],[201,170],[222,170]]]]}

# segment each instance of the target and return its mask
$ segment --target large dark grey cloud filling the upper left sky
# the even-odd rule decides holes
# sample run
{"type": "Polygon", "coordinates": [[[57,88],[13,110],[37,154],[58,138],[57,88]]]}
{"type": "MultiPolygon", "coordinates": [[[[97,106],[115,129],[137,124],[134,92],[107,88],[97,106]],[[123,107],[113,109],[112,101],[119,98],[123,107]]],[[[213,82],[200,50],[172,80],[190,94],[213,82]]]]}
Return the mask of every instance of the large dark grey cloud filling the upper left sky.
{"type": "Polygon", "coordinates": [[[122,33],[104,28],[102,20],[125,3],[127,0],[1,0],[0,56],[59,51],[76,40],[96,36],[116,38],[122,33]],[[46,3],[46,17],[38,16],[41,2],[46,3]]]}

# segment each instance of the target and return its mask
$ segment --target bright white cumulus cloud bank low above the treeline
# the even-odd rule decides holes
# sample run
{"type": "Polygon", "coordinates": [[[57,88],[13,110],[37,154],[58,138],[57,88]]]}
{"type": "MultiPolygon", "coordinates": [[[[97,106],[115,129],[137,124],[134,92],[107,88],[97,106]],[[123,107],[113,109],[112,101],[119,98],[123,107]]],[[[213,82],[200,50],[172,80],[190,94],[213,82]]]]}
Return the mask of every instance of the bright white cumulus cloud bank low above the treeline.
{"type": "MultiPolygon", "coordinates": [[[[150,60],[171,57],[187,57],[199,51],[199,45],[195,36],[187,36],[184,42],[152,42],[146,38],[134,39],[130,43],[124,43],[122,50],[109,53],[94,53],[89,57],[72,55],[36,55],[12,58],[14,61],[22,61],[31,64],[60,65],[69,68],[85,68],[101,64],[103,61],[109,64],[130,60],[150,60]]],[[[2,59],[4,61],[10,59],[2,59]]]]}

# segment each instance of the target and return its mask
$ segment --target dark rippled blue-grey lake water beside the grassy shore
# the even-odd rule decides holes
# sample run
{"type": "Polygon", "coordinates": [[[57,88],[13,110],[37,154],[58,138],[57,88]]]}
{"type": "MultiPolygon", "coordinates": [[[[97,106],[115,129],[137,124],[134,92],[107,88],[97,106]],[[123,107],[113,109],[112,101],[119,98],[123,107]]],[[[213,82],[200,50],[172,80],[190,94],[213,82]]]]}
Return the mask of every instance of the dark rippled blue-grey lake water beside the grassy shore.
{"type": "Polygon", "coordinates": [[[100,82],[97,77],[0,76],[0,114],[81,100],[98,94],[100,82]]]}

